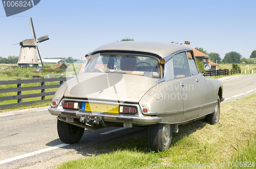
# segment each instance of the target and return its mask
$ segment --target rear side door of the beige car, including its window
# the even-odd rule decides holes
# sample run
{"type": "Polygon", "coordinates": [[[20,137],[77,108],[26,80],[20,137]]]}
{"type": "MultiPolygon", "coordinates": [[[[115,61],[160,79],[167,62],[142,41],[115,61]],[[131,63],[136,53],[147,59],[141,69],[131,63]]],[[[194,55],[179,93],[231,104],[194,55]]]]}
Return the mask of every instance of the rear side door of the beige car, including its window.
{"type": "Polygon", "coordinates": [[[174,77],[181,86],[184,114],[182,122],[199,117],[200,96],[197,81],[191,75],[186,52],[181,52],[173,57],[174,77]]]}

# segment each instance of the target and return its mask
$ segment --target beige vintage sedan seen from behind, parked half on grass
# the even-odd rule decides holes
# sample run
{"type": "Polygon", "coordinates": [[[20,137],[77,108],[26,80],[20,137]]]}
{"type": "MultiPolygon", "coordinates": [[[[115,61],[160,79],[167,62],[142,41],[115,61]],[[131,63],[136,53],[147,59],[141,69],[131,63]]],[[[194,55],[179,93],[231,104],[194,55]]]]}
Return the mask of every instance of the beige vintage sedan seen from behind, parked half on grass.
{"type": "Polygon", "coordinates": [[[181,124],[219,122],[222,82],[198,71],[187,46],[114,42],[86,59],[82,73],[57,90],[49,108],[63,143],[79,142],[84,128],[148,126],[149,147],[157,152],[169,148],[181,124]]]}

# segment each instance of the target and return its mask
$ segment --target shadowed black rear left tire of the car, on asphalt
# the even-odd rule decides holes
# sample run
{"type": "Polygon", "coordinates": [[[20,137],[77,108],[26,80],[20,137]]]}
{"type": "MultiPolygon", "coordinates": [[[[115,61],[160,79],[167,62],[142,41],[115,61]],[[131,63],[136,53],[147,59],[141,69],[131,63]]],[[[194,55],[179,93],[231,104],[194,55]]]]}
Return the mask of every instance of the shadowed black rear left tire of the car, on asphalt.
{"type": "Polygon", "coordinates": [[[75,144],[81,139],[84,128],[57,120],[58,135],[63,143],[75,144]]]}

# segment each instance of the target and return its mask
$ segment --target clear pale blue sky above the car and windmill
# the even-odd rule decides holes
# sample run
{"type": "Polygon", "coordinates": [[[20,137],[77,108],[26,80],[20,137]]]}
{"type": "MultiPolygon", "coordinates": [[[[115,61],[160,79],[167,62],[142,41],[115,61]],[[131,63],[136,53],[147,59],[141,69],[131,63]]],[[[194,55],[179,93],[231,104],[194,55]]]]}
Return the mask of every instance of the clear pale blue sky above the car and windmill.
{"type": "MultiPolygon", "coordinates": [[[[29,18],[42,58],[81,59],[95,48],[124,38],[136,41],[190,41],[191,47],[249,58],[256,50],[256,1],[66,1],[41,0],[6,17],[0,4],[0,57],[19,55],[20,41],[32,39],[29,18]],[[16,45],[13,45],[16,44],[16,45]]],[[[39,57],[38,57],[39,58],[39,57]]]]}

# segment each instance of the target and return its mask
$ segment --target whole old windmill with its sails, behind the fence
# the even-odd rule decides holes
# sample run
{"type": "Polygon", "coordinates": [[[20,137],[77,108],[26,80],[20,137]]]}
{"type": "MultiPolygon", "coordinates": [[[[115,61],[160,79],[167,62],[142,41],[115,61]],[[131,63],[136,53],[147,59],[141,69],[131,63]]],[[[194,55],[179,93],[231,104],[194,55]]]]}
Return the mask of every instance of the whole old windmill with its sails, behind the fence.
{"type": "Polygon", "coordinates": [[[36,53],[36,50],[37,50],[42,67],[44,67],[44,63],[42,62],[37,43],[47,41],[49,40],[49,37],[48,35],[46,35],[37,39],[35,36],[35,30],[34,30],[32,18],[29,19],[29,22],[30,22],[30,29],[31,29],[31,34],[33,39],[26,39],[24,41],[19,42],[19,45],[22,47],[20,47],[17,66],[25,67],[25,68],[39,67],[38,60],[37,60],[37,53],[36,53]]]}

